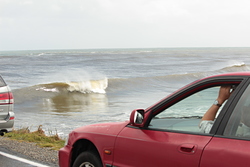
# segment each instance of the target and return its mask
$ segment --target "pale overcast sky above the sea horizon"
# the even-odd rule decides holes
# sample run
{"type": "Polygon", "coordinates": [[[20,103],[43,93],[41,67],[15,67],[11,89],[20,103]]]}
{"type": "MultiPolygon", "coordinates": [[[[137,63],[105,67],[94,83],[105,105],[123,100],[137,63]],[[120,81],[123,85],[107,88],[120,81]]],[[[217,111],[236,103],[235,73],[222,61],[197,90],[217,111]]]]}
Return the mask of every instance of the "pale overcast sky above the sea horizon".
{"type": "Polygon", "coordinates": [[[0,0],[0,50],[249,47],[249,0],[0,0]]]}

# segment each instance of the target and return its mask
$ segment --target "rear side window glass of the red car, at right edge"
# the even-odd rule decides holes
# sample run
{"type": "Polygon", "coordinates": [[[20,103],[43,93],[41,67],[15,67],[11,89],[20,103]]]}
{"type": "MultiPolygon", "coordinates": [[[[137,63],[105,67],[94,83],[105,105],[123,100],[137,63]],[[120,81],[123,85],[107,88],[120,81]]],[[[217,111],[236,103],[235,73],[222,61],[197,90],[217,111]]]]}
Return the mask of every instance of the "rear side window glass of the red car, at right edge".
{"type": "Polygon", "coordinates": [[[234,108],[224,136],[250,139],[250,85],[234,108]]]}

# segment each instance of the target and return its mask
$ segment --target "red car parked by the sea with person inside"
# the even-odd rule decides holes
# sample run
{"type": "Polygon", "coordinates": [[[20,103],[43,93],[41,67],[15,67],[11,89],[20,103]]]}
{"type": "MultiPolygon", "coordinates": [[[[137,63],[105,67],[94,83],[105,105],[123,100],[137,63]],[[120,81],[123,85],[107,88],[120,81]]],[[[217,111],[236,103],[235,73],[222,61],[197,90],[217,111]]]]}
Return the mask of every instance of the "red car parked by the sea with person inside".
{"type": "Polygon", "coordinates": [[[132,111],[129,121],[75,129],[59,151],[59,165],[248,167],[249,112],[250,72],[207,77],[132,111]],[[223,104],[222,87],[230,87],[223,104]],[[203,120],[211,108],[217,110],[215,119],[203,120]],[[211,125],[207,132],[201,122],[211,125]]]}

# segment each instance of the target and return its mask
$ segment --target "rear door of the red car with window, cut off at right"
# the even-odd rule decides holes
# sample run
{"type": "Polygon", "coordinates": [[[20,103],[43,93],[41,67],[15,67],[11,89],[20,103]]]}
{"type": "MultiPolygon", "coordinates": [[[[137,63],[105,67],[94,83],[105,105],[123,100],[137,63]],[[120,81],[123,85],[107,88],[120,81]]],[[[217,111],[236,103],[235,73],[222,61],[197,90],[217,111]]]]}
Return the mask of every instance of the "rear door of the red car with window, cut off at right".
{"type": "Polygon", "coordinates": [[[247,83],[241,92],[232,101],[217,134],[205,147],[201,167],[249,167],[250,85],[247,83]]]}

